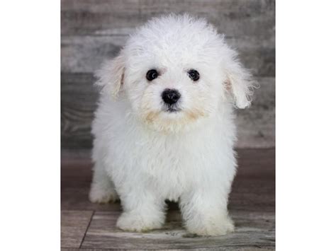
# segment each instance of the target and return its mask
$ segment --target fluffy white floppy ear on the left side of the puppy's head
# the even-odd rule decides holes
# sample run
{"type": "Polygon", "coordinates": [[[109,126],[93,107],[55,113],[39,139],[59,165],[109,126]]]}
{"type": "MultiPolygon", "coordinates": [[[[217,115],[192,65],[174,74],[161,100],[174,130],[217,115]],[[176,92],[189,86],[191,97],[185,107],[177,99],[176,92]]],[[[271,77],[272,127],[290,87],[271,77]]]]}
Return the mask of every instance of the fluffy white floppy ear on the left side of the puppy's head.
{"type": "Polygon", "coordinates": [[[125,72],[125,57],[123,50],[114,59],[107,60],[96,71],[97,86],[101,86],[101,91],[111,93],[116,98],[123,84],[123,76],[125,72]]]}

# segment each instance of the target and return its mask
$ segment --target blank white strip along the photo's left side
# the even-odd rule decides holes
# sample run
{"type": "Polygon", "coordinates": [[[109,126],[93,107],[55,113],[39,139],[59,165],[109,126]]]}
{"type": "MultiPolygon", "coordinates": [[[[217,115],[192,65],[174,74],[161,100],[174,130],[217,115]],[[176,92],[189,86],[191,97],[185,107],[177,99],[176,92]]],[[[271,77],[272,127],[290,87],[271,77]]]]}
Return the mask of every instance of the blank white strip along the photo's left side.
{"type": "Polygon", "coordinates": [[[60,1],[1,1],[1,250],[60,250],[60,1]]]}

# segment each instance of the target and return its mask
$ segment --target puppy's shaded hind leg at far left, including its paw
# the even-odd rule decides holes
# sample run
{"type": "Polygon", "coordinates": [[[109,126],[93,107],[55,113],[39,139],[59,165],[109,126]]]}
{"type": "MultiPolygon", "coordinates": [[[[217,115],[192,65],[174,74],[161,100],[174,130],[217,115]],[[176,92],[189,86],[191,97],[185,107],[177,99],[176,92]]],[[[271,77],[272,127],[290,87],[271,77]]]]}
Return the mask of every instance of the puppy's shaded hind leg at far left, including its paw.
{"type": "Polygon", "coordinates": [[[116,202],[119,199],[113,181],[106,173],[101,161],[94,164],[94,176],[91,182],[89,199],[93,203],[116,202]]]}

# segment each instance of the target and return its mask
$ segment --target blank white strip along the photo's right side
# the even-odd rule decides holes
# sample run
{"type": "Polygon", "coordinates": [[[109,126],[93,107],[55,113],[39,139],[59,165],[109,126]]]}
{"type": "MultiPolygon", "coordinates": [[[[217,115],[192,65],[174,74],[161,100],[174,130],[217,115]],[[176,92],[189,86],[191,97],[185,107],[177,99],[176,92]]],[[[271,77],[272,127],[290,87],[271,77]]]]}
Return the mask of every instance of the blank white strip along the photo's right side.
{"type": "Polygon", "coordinates": [[[335,15],[276,1],[277,250],[335,249],[335,15]]]}

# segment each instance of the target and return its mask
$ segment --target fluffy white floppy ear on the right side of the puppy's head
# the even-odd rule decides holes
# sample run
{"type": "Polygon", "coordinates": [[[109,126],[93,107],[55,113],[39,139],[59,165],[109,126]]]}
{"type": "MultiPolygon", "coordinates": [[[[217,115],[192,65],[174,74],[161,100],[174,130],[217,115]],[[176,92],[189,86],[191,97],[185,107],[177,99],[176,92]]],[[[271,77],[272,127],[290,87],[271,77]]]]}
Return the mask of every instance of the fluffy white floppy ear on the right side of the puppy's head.
{"type": "Polygon", "coordinates": [[[231,95],[235,106],[245,108],[251,105],[253,88],[257,88],[257,82],[252,79],[252,75],[240,64],[237,53],[232,49],[228,51],[225,62],[225,88],[231,95]]]}

